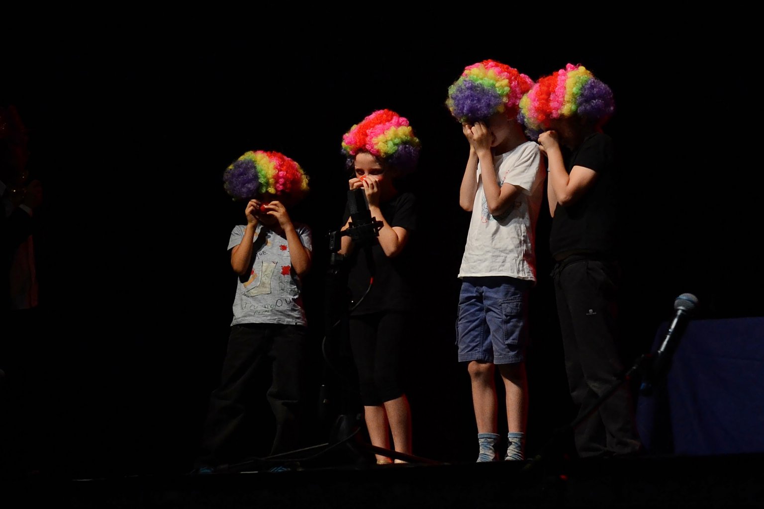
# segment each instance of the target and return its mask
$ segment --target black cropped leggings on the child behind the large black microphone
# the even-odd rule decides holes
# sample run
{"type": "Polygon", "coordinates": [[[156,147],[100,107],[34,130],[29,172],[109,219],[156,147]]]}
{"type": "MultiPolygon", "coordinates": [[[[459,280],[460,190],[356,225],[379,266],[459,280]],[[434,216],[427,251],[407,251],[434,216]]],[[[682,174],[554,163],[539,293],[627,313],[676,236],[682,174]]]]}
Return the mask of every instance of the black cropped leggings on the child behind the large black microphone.
{"type": "Polygon", "coordinates": [[[350,345],[364,405],[380,405],[403,395],[408,323],[408,314],[400,311],[350,317],[350,345]]]}

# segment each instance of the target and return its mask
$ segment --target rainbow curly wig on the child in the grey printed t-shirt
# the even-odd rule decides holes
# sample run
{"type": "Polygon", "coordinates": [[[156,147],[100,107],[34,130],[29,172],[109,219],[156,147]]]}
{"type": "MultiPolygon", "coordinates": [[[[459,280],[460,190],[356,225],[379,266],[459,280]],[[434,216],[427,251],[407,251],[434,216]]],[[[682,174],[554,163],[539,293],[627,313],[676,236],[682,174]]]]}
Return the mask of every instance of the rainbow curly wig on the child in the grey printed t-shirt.
{"type": "Polygon", "coordinates": [[[235,200],[262,199],[294,204],[308,192],[308,176],[299,164],[278,152],[249,151],[223,173],[225,192],[235,200]]]}

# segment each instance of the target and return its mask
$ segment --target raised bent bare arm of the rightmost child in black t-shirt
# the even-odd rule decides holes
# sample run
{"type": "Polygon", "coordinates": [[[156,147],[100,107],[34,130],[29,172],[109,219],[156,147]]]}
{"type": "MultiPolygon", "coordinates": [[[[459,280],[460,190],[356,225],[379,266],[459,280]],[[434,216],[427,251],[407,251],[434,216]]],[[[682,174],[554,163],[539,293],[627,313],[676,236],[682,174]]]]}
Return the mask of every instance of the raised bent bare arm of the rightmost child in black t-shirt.
{"type": "MultiPolygon", "coordinates": [[[[555,204],[563,207],[573,205],[597,179],[597,172],[584,166],[573,166],[570,175],[565,170],[565,161],[562,159],[562,150],[558,142],[557,133],[546,130],[539,135],[539,144],[543,147],[549,160],[549,208],[552,208],[552,196],[555,204]]],[[[554,212],[552,211],[552,217],[554,212]]]]}

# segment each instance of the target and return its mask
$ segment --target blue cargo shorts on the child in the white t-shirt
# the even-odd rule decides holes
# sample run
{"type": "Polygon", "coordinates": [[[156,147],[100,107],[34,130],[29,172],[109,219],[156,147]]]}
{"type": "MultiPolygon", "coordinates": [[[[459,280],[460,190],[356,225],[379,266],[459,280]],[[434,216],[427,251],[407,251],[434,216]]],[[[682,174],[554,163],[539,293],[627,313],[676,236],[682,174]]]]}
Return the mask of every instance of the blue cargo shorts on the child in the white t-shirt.
{"type": "Polygon", "coordinates": [[[531,284],[503,276],[462,279],[456,321],[459,362],[513,364],[525,360],[531,284]]]}

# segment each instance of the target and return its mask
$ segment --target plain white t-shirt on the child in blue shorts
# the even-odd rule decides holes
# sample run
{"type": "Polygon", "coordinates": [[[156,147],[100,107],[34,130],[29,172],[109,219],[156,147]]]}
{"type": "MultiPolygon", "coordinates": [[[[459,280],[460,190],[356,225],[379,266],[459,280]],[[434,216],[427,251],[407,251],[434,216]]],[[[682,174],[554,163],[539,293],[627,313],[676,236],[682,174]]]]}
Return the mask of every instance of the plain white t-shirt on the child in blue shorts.
{"type": "Polygon", "coordinates": [[[526,141],[507,153],[494,156],[494,169],[499,187],[508,182],[520,188],[520,192],[514,205],[500,216],[492,216],[488,212],[478,163],[478,192],[472,205],[458,277],[506,275],[536,281],[534,237],[546,178],[539,145],[526,141]]]}

